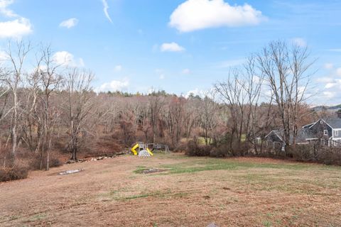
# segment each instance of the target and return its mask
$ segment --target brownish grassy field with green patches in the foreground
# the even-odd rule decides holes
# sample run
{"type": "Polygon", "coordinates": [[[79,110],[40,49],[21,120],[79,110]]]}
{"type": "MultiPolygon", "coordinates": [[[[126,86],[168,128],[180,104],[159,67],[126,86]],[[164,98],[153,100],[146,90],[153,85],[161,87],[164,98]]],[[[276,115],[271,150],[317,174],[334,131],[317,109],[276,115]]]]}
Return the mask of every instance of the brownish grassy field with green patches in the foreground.
{"type": "Polygon", "coordinates": [[[341,168],[127,155],[2,183],[0,201],[0,226],[341,226],[341,168]]]}

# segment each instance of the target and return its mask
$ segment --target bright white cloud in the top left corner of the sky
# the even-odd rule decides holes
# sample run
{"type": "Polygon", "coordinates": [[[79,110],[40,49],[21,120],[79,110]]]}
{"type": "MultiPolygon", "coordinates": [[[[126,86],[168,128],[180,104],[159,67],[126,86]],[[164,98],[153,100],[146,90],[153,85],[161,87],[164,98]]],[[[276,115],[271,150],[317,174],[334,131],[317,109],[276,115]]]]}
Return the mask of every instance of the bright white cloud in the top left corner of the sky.
{"type": "Polygon", "coordinates": [[[11,9],[8,9],[11,4],[13,4],[13,0],[0,0],[0,14],[14,18],[10,21],[0,22],[0,38],[20,38],[23,35],[32,33],[30,20],[18,16],[11,9]]]}

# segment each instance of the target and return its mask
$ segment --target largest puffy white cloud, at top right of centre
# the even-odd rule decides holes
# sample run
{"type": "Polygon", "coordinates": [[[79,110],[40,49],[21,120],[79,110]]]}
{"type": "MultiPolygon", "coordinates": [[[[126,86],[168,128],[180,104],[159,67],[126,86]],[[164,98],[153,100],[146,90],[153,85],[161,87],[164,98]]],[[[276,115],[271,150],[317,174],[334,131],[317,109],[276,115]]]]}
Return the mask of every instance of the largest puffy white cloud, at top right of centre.
{"type": "Polygon", "coordinates": [[[169,25],[180,32],[204,28],[255,26],[264,20],[249,4],[230,6],[224,0],[187,0],[171,14],[169,25]]]}

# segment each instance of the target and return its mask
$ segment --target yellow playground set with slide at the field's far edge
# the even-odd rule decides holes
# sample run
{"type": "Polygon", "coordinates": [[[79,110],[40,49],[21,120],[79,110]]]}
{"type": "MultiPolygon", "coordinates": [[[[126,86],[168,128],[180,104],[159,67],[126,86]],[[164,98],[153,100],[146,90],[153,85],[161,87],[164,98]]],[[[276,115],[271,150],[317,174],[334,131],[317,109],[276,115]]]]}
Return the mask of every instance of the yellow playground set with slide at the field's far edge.
{"type": "Polygon", "coordinates": [[[131,152],[139,157],[153,156],[153,152],[169,152],[168,145],[137,142],[132,148],[131,152]]]}

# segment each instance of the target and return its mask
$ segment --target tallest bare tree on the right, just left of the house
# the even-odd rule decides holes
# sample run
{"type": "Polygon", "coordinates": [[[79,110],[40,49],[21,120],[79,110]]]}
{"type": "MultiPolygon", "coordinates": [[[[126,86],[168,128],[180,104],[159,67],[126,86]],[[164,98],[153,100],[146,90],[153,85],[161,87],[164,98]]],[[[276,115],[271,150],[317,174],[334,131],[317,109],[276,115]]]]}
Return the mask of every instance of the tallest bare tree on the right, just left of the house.
{"type": "Polygon", "coordinates": [[[308,57],[306,47],[288,47],[283,41],[271,42],[257,55],[257,67],[274,95],[286,148],[291,144],[291,136],[296,145],[298,107],[308,98],[308,70],[313,64],[308,57]]]}

